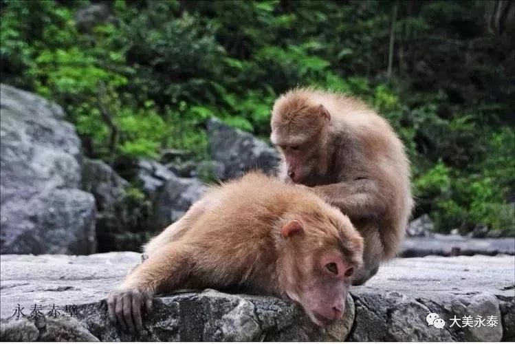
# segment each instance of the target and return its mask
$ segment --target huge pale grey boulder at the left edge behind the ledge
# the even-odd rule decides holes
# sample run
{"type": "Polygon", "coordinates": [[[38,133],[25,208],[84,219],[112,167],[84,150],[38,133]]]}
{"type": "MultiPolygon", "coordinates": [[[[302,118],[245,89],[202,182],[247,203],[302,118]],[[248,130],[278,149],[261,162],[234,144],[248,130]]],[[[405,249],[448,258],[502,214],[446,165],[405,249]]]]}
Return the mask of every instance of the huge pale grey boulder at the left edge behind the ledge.
{"type": "Polygon", "coordinates": [[[61,107],[0,85],[3,253],[95,249],[94,197],[80,191],[80,140],[61,107]]]}

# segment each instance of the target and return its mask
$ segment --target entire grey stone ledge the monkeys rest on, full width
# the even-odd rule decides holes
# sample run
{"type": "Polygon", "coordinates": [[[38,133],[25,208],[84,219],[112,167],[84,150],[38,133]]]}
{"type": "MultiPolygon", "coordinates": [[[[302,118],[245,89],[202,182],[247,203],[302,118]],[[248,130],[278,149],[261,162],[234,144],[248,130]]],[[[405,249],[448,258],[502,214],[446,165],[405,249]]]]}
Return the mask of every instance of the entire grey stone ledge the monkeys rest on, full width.
{"type": "Polygon", "coordinates": [[[427,257],[382,266],[365,286],[351,289],[344,319],[330,327],[314,325],[291,301],[204,290],[156,297],[146,332],[133,338],[109,323],[105,297],[139,262],[135,252],[0,256],[0,338],[342,341],[348,334],[351,341],[500,341],[514,330],[513,257],[427,257]],[[44,317],[30,316],[34,303],[45,306],[44,317]],[[18,305],[25,314],[19,319],[18,305]],[[58,316],[48,314],[53,305],[58,316]],[[444,329],[427,325],[430,312],[445,321],[444,329]],[[450,327],[454,316],[469,314],[496,316],[498,325],[450,327]]]}

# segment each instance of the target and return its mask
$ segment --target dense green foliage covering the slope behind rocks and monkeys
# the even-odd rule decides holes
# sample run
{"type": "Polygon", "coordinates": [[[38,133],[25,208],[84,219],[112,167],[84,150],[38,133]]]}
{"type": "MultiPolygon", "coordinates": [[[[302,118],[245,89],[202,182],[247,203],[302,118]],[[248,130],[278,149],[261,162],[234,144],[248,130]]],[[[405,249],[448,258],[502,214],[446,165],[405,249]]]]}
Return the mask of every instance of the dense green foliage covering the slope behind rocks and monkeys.
{"type": "Polygon", "coordinates": [[[415,216],[515,233],[515,23],[491,2],[116,0],[79,32],[89,3],[1,0],[0,21],[2,82],[63,105],[87,155],[208,160],[207,118],[267,139],[274,99],[313,85],[391,122],[415,216]]]}

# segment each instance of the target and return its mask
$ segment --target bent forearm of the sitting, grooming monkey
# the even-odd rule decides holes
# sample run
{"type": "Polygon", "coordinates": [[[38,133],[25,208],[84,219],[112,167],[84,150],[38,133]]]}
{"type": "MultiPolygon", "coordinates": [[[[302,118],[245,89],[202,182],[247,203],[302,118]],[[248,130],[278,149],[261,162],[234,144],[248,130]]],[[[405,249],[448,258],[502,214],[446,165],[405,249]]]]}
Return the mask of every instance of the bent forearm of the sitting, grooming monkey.
{"type": "Polygon", "coordinates": [[[338,182],[314,186],[311,189],[353,219],[380,217],[386,211],[384,197],[373,180],[338,182]]]}

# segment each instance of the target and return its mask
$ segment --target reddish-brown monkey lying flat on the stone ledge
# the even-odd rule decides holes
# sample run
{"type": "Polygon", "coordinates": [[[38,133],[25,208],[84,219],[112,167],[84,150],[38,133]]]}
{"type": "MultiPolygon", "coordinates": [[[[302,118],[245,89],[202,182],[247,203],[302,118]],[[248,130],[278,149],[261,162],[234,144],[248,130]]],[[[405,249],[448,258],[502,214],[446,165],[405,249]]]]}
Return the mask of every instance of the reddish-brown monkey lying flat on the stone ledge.
{"type": "Polygon", "coordinates": [[[324,326],[341,319],[363,239],[349,217],[302,186],[250,172],[210,189],[144,246],[148,257],[107,299],[132,334],[153,295],[237,288],[299,303],[324,326]]]}

